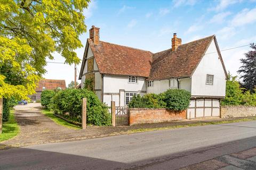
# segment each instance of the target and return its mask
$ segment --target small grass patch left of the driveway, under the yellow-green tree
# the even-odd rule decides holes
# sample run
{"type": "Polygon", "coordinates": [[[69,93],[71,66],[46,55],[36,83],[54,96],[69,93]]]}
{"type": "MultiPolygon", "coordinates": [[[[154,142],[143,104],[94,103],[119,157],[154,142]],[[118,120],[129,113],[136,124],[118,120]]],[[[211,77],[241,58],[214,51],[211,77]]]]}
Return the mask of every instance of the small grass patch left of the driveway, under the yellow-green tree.
{"type": "Polygon", "coordinates": [[[0,134],[0,142],[15,137],[19,131],[19,126],[14,117],[14,111],[11,110],[9,120],[7,122],[3,122],[2,134],[0,134]]]}

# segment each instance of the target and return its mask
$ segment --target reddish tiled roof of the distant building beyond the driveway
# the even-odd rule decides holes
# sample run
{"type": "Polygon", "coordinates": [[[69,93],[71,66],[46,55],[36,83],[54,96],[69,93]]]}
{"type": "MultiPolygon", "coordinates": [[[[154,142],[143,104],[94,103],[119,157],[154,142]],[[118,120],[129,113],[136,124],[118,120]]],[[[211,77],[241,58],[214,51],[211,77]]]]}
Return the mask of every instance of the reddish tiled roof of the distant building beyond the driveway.
{"type": "Polygon", "coordinates": [[[43,87],[45,87],[46,90],[54,90],[58,87],[63,90],[66,89],[66,83],[65,80],[42,79],[39,81],[36,91],[42,91],[43,87]]]}

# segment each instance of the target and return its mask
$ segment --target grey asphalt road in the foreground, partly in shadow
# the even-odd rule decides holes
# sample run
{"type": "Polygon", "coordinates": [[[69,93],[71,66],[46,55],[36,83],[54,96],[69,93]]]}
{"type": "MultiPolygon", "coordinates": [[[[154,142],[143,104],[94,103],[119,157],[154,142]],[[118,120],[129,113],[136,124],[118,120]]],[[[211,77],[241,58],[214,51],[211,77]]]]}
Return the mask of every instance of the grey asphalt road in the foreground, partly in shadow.
{"type": "Polygon", "coordinates": [[[253,147],[256,121],[1,150],[0,169],[178,169],[253,147]]]}

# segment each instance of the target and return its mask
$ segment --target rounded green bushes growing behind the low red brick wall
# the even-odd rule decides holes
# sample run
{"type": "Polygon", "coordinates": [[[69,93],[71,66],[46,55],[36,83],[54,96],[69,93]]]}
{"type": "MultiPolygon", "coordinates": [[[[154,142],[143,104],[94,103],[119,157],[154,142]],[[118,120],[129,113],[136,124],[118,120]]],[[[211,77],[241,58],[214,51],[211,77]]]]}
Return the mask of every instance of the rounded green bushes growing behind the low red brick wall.
{"type": "Polygon", "coordinates": [[[130,108],[167,108],[183,111],[188,108],[190,92],[181,89],[169,89],[162,94],[147,94],[141,97],[133,96],[130,108]]]}

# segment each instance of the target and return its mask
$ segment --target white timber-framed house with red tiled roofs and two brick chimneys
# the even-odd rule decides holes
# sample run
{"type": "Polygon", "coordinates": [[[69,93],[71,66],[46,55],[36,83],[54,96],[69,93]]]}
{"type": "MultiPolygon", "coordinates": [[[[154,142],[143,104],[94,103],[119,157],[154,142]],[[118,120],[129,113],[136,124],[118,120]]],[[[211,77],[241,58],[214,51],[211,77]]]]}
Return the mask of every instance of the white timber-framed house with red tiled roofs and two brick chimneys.
{"type": "Polygon", "coordinates": [[[159,94],[167,89],[191,92],[187,118],[220,116],[227,72],[215,35],[181,44],[176,33],[170,49],[151,53],[100,41],[92,26],[79,79],[91,82],[95,94],[110,106],[125,106],[134,95],[159,94]]]}

